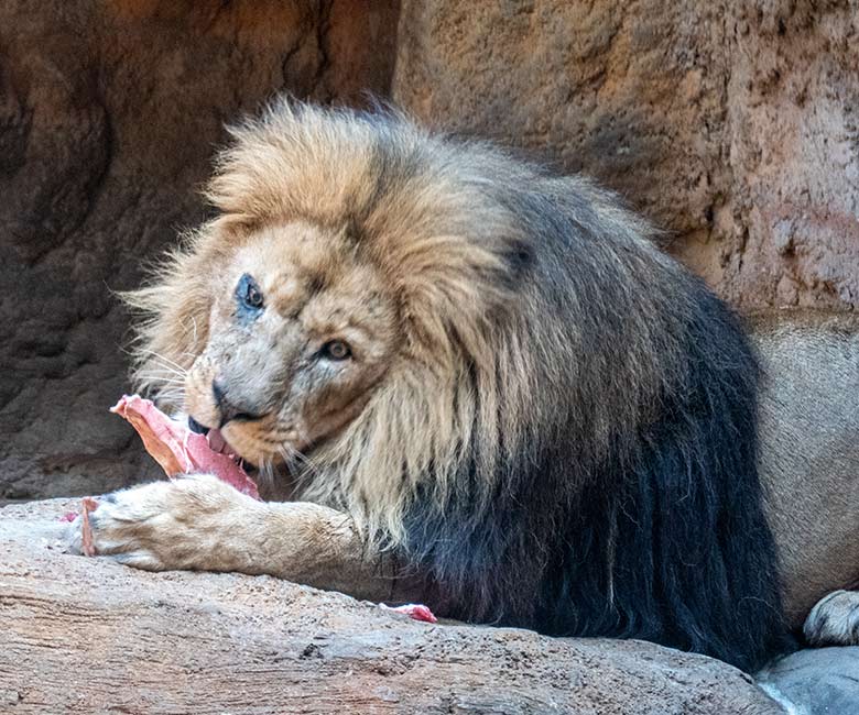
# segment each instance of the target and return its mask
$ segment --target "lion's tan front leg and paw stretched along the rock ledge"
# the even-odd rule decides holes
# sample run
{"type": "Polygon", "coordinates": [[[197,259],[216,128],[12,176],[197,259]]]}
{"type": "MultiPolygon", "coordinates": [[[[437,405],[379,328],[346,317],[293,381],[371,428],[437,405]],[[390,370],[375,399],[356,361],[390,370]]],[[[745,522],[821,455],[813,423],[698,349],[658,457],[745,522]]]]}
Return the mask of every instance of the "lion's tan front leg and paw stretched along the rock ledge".
{"type": "MultiPolygon", "coordinates": [[[[210,475],[98,501],[89,515],[96,552],[132,566],[270,574],[370,601],[410,595],[393,593],[390,556],[368,553],[348,515],[317,504],[257,502],[210,475]]],[[[69,528],[80,552],[80,519],[69,528]]]]}

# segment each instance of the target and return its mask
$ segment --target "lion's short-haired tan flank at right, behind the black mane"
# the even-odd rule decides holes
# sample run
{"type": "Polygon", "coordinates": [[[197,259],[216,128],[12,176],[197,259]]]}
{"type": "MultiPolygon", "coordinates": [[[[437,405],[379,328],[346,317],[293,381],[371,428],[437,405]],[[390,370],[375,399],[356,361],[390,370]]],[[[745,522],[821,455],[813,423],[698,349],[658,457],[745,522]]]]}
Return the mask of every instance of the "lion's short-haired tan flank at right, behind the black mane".
{"type": "Polygon", "coordinates": [[[761,479],[793,625],[859,563],[859,318],[752,319],[764,366],[761,479]]]}

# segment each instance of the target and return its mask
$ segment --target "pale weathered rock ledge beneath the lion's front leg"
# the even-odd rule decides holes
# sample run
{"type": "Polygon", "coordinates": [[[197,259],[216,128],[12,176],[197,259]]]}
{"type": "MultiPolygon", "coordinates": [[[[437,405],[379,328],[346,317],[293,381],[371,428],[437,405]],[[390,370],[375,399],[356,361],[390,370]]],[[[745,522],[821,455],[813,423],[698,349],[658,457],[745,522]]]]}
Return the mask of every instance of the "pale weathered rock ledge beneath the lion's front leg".
{"type": "Polygon", "coordinates": [[[4,713],[781,712],[738,670],[641,641],[430,626],[268,576],[68,556],[69,507],[0,509],[4,713]]]}

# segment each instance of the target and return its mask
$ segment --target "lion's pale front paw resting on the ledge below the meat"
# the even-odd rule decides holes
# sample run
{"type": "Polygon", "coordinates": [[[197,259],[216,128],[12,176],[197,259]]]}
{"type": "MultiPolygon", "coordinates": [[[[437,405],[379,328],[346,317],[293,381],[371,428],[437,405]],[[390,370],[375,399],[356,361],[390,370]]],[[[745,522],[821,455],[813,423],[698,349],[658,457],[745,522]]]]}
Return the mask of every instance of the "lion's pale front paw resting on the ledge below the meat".
{"type": "MultiPolygon", "coordinates": [[[[230,541],[261,506],[208,474],[154,482],[98,498],[89,513],[93,547],[138,569],[241,570],[230,541]]],[[[83,553],[81,517],[68,539],[69,550],[83,553]]]]}

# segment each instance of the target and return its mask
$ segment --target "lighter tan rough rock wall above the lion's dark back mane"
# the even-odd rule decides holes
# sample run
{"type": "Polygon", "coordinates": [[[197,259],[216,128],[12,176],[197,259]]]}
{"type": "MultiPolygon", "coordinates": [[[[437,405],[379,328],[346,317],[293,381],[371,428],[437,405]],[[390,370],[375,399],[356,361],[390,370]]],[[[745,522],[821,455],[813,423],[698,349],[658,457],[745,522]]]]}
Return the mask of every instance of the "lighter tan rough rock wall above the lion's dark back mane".
{"type": "Polygon", "coordinates": [[[736,305],[859,306],[855,2],[404,0],[433,124],[619,190],[736,305]]]}

